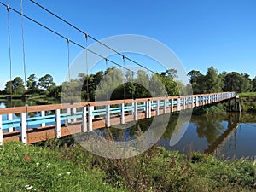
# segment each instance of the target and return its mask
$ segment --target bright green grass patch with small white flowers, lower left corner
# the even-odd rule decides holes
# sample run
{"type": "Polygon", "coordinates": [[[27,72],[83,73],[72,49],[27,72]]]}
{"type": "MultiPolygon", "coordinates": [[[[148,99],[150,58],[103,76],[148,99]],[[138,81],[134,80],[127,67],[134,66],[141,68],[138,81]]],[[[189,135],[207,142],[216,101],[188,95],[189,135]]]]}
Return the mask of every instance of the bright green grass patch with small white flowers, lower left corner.
{"type": "Polygon", "coordinates": [[[103,172],[63,160],[49,148],[6,143],[0,159],[0,191],[125,191],[106,183],[103,172]]]}

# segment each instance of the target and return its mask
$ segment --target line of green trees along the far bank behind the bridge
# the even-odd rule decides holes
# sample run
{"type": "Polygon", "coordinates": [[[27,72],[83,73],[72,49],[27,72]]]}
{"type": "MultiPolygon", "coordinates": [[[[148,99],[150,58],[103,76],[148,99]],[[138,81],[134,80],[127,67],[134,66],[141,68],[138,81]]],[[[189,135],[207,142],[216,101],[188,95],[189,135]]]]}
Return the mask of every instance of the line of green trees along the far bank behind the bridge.
{"type": "Polygon", "coordinates": [[[31,74],[26,80],[26,86],[23,79],[16,77],[5,84],[1,94],[24,95],[26,92],[54,97],[58,100],[61,100],[62,96],[67,99],[65,102],[75,102],[187,95],[192,93],[191,88],[194,94],[256,91],[256,77],[250,79],[247,73],[218,73],[216,68],[209,67],[206,74],[191,70],[188,77],[190,84],[183,84],[182,81],[177,80],[176,69],[149,75],[143,70],[135,74],[109,67],[106,71],[89,75],[79,73],[78,77],[56,85],[50,74],[45,74],[39,79],[35,74],[31,74]]]}

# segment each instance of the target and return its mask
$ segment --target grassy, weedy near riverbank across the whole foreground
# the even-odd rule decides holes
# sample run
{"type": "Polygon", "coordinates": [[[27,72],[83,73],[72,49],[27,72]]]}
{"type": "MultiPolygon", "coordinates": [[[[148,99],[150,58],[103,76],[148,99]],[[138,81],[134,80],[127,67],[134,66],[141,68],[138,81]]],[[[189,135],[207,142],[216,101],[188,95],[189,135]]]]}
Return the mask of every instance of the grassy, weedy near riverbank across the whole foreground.
{"type": "Polygon", "coordinates": [[[105,159],[72,137],[0,150],[3,191],[252,191],[256,161],[217,160],[153,147],[125,160],[105,159]],[[29,186],[28,186],[29,185],[29,186]]]}

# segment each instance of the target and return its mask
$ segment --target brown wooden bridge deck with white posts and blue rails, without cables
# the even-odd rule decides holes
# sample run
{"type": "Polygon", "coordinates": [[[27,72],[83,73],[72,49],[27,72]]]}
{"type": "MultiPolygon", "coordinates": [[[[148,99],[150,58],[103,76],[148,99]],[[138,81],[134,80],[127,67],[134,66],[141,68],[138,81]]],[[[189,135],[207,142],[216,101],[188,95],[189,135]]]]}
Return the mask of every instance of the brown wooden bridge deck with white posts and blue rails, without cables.
{"type": "Polygon", "coordinates": [[[234,92],[0,108],[0,143],[36,143],[79,132],[221,102],[234,92]]]}

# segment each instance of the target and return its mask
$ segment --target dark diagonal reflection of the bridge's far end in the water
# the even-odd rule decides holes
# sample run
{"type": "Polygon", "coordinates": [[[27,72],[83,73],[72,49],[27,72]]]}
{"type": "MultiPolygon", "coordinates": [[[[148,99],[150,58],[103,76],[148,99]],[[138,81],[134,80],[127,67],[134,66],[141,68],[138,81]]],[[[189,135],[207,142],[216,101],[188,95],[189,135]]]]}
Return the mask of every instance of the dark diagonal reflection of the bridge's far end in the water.
{"type": "MultiPolygon", "coordinates": [[[[235,148],[236,148],[236,129],[239,126],[239,118],[235,121],[232,121],[231,114],[229,118],[229,125],[228,129],[224,131],[222,135],[218,137],[218,139],[215,140],[204,152],[204,154],[212,154],[215,151],[217,151],[218,148],[221,148],[224,146],[224,144],[228,141],[230,141],[233,133],[235,133],[235,148]]],[[[231,143],[230,143],[231,144],[231,143]]]]}

